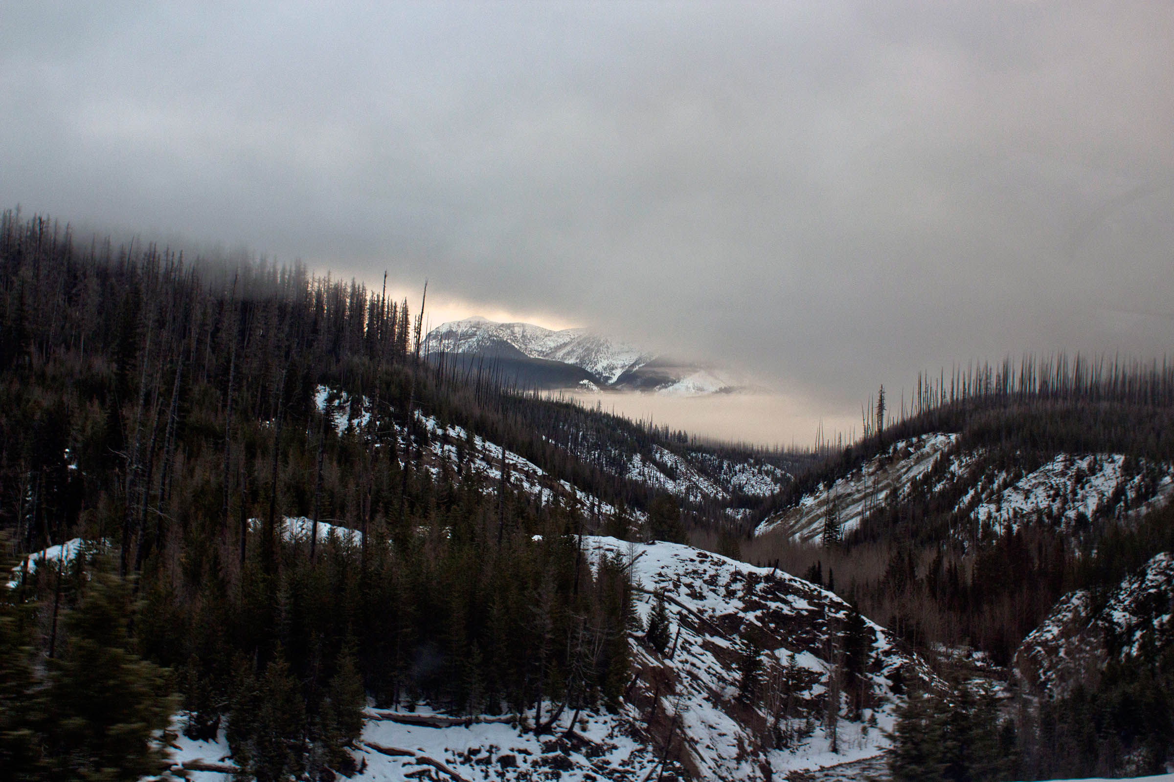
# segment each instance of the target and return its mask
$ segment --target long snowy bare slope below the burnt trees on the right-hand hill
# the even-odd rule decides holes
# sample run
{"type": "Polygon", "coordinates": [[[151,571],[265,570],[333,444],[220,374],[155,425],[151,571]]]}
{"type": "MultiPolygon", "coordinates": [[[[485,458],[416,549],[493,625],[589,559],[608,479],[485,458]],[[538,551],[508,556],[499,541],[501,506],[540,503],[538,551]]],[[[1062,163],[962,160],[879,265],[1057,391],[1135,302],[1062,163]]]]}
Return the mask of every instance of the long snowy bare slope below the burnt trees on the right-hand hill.
{"type": "Polygon", "coordinates": [[[1079,530],[1091,519],[1124,518],[1163,505],[1174,496],[1174,468],[1169,464],[1136,460],[1129,467],[1121,454],[1059,454],[1026,474],[991,467],[979,471],[981,453],[958,453],[953,448],[957,442],[956,434],[930,434],[893,443],[861,469],[830,487],[821,484],[797,504],[763,519],[756,533],[780,530],[810,542],[822,533],[832,503],[841,529],[850,532],[870,510],[908,494],[910,483],[943,456],[950,458],[949,469],[929,487],[930,492],[950,485],[965,488],[956,511],[992,535],[1013,531],[1034,518],[1079,530]]]}

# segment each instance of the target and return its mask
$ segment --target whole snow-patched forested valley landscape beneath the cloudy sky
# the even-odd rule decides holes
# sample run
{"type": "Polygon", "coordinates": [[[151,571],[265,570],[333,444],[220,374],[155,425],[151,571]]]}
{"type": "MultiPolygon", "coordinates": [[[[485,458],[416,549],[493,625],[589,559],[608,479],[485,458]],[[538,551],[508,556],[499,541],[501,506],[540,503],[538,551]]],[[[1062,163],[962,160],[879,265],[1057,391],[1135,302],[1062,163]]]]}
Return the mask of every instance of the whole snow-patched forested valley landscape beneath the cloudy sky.
{"type": "Polygon", "coordinates": [[[668,366],[586,332],[425,335],[357,284],[46,254],[36,230],[0,231],[13,768],[1161,770],[1165,366],[1025,359],[927,385],[855,442],[720,442],[493,363],[608,387],[668,366]]]}

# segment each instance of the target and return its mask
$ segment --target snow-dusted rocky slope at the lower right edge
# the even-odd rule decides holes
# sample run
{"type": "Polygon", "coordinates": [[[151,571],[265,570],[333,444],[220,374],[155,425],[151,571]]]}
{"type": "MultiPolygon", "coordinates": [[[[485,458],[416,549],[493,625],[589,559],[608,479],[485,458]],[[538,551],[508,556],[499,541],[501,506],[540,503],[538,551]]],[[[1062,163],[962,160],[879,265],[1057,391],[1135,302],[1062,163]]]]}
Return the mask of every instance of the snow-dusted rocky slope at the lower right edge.
{"type": "Polygon", "coordinates": [[[1160,553],[1127,576],[1099,606],[1087,590],[1060,598],[1016,651],[1017,679],[1037,692],[1064,696],[1078,682],[1094,684],[1105,662],[1124,660],[1174,640],[1174,556],[1160,553]]]}

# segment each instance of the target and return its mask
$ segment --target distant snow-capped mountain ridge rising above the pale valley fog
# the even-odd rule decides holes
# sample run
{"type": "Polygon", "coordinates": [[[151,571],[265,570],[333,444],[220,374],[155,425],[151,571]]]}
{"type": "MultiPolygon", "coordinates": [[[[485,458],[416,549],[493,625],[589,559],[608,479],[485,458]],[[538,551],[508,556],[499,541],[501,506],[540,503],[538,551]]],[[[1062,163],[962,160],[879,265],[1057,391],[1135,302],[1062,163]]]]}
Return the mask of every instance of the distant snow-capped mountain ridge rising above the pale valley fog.
{"type": "Polygon", "coordinates": [[[680,363],[587,328],[552,329],[502,324],[480,315],[437,326],[425,338],[432,354],[491,356],[507,374],[545,388],[612,388],[674,395],[723,393],[734,385],[721,373],[680,363]],[[586,376],[546,362],[578,367],[586,376]]]}

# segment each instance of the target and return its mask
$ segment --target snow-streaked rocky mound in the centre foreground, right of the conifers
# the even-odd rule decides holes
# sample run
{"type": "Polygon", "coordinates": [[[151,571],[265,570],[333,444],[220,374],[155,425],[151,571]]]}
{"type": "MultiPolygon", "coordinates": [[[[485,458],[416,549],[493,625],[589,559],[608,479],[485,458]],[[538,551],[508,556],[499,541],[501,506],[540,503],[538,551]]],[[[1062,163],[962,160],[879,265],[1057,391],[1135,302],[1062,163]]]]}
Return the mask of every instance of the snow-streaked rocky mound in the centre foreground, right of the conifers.
{"type": "MultiPolygon", "coordinates": [[[[763,644],[771,672],[781,671],[794,654],[796,676],[804,687],[791,727],[804,721],[801,714],[823,713],[830,668],[828,633],[838,634],[850,611],[834,593],[781,571],[674,543],[585,537],[583,545],[592,562],[608,556],[630,566],[645,621],[652,594],[663,591],[666,596],[674,640],[663,655],[633,644],[636,681],[629,687],[625,713],[637,723],[676,719],[688,749],[686,766],[696,776],[762,780],[788,769],[872,756],[888,747],[877,727],[844,721],[838,754],[829,752],[829,735],[819,728],[790,750],[770,749],[764,743],[769,715],[737,701],[742,638],[753,634],[763,644]]],[[[892,727],[892,681],[929,681],[933,674],[919,658],[899,650],[888,631],[863,621],[871,639],[865,675],[876,708],[870,714],[888,729],[892,727]]]]}

